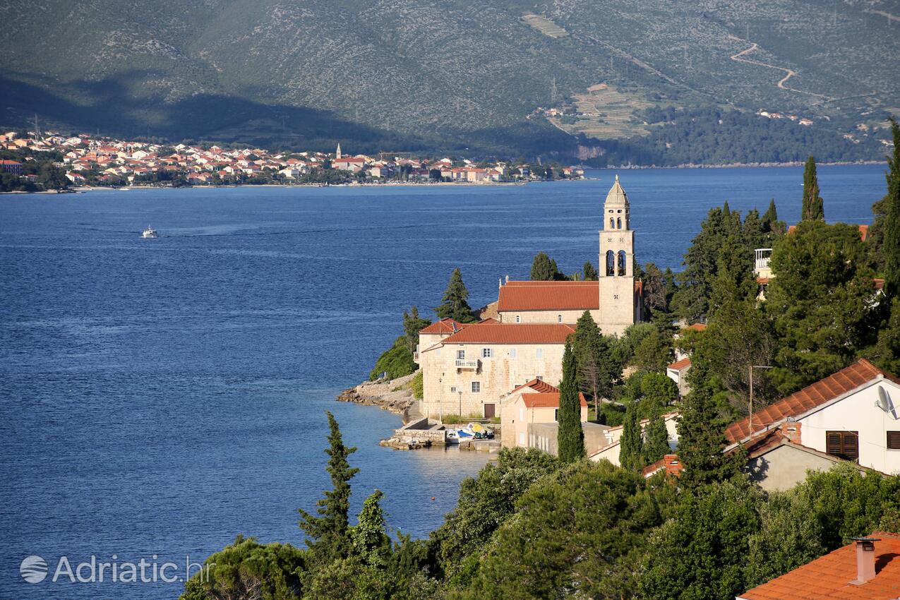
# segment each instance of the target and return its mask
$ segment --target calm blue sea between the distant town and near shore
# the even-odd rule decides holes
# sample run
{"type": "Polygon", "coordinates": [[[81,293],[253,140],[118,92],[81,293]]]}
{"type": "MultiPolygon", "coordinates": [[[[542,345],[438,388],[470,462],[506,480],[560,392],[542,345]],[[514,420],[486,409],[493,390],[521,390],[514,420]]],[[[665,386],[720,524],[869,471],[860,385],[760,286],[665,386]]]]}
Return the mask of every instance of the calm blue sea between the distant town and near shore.
{"type": "MultiPolygon", "coordinates": [[[[819,170],[829,220],[871,222],[883,166],[819,170]]],[[[597,261],[599,181],[0,197],[0,598],[174,598],[180,584],[29,584],[20,563],[202,560],[236,534],[302,544],[328,486],[325,411],[425,536],[483,455],[395,452],[399,418],[334,401],[461,267],[473,307],[544,250],[597,261]],[[162,237],[142,240],[148,224],[162,237]],[[112,559],[112,555],[117,558],[112,559]]],[[[678,269],[709,208],[797,220],[799,168],[621,172],[640,261],[678,269]]],[[[148,571],[149,573],[149,571],[148,571]]],[[[175,574],[183,574],[179,570],[175,574]]],[[[88,570],[83,571],[90,577],[88,570]]]]}

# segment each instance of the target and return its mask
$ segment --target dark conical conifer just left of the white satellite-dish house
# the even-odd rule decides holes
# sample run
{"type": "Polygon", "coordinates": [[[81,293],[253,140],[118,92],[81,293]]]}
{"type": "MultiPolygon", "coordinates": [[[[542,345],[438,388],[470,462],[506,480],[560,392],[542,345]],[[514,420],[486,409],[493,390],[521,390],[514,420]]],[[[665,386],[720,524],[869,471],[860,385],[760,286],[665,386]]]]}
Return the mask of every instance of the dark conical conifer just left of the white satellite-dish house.
{"type": "Polygon", "coordinates": [[[718,411],[712,393],[698,386],[681,401],[678,420],[678,454],[686,486],[703,486],[728,479],[737,472],[737,462],[725,456],[725,434],[716,425],[718,411]]]}

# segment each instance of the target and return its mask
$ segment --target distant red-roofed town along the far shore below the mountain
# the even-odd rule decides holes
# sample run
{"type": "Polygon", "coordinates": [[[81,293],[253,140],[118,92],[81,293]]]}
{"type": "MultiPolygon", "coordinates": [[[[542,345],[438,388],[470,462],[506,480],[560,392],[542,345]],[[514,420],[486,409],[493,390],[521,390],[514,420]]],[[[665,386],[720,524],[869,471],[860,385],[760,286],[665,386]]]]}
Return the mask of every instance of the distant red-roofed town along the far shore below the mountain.
{"type": "Polygon", "coordinates": [[[464,157],[350,154],[340,148],[273,153],[263,148],[166,145],[88,134],[0,134],[0,192],[89,186],[238,184],[499,184],[581,179],[578,166],[528,165],[464,157]]]}

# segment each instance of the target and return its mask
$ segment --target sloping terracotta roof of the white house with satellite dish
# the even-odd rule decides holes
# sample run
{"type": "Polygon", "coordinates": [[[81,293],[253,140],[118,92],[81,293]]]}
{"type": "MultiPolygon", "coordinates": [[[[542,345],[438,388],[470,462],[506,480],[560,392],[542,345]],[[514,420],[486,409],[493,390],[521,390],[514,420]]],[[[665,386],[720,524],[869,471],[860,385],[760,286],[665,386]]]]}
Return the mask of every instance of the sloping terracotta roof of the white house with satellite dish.
{"type": "MultiPolygon", "coordinates": [[[[764,429],[767,425],[778,423],[788,416],[800,416],[815,407],[822,406],[826,402],[836,399],[843,394],[856,390],[861,385],[874,380],[878,375],[884,375],[890,381],[900,384],[900,379],[878,369],[866,359],[860,359],[846,369],[830,375],[824,380],[816,381],[797,391],[788,398],[780,399],[774,404],[753,413],[753,428],[756,431],[764,429]]],[[[725,429],[725,437],[729,442],[739,442],[745,439],[750,431],[750,417],[745,416],[740,421],[728,425],[725,429]]]]}

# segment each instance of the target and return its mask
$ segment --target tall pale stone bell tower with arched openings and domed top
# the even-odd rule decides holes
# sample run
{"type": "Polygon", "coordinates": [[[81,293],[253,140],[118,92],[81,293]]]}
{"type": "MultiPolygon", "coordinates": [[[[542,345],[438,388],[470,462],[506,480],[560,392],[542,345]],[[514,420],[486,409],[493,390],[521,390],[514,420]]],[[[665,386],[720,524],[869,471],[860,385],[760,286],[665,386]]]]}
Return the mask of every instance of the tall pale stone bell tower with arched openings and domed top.
{"type": "Polygon", "coordinates": [[[635,323],[635,232],[631,228],[631,208],[622,185],[616,183],[603,205],[600,231],[600,314],[598,325],[604,334],[621,336],[635,323]]]}

